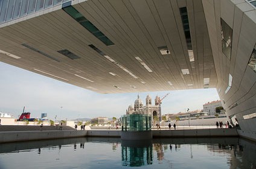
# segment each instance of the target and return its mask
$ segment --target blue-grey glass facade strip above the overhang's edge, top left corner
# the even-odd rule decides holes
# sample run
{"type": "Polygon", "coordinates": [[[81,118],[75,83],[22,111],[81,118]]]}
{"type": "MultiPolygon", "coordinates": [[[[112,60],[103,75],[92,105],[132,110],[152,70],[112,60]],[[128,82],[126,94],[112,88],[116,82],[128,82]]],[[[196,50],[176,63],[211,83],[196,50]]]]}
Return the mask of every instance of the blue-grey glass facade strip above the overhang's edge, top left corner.
{"type": "MultiPolygon", "coordinates": [[[[0,24],[62,4],[67,0],[0,0],[0,24]]],[[[70,1],[70,0],[68,0],[70,1]]]]}

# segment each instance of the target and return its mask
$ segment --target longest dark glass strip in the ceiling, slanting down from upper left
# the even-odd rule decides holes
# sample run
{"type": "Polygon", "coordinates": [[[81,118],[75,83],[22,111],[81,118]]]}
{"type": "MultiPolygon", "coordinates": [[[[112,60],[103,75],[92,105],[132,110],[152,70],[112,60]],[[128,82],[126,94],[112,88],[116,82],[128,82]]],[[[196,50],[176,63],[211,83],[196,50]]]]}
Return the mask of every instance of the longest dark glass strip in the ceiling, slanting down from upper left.
{"type": "Polygon", "coordinates": [[[114,43],[109,38],[107,38],[100,30],[98,30],[97,27],[94,26],[94,24],[92,24],[92,22],[86,19],[85,16],[79,13],[74,7],[69,5],[68,7],[63,7],[62,9],[66,11],[66,13],[68,13],[72,18],[74,18],[75,21],[86,28],[86,30],[101,40],[101,42],[103,42],[105,45],[114,45],[114,43]]]}

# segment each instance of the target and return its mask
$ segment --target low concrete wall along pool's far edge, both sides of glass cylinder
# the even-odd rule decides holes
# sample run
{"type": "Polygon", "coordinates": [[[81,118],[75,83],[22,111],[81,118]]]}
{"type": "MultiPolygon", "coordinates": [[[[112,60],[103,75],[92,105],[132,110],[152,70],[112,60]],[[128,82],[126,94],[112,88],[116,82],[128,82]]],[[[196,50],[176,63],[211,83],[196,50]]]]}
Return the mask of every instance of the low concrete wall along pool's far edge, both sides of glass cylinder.
{"type": "MultiPolygon", "coordinates": [[[[121,137],[121,130],[74,130],[72,127],[63,126],[62,130],[55,126],[43,126],[40,131],[39,126],[26,126],[26,130],[21,130],[22,126],[11,126],[16,131],[4,128],[10,126],[0,126],[0,142],[18,142],[43,139],[60,139],[76,137],[121,137]],[[37,130],[35,130],[37,129],[37,130]]],[[[24,128],[24,127],[23,127],[24,128]]],[[[236,129],[179,129],[179,130],[152,130],[153,138],[157,137],[228,137],[238,136],[236,129]]]]}

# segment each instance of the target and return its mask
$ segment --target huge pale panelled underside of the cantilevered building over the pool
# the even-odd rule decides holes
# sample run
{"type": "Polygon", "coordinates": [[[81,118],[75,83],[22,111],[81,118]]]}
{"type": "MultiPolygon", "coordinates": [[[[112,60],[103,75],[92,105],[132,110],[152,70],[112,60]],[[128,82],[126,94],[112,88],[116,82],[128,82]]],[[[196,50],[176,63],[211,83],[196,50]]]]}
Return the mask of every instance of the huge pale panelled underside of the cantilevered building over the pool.
{"type": "Polygon", "coordinates": [[[72,3],[0,24],[0,61],[100,93],[216,88],[201,0],[72,3]]]}

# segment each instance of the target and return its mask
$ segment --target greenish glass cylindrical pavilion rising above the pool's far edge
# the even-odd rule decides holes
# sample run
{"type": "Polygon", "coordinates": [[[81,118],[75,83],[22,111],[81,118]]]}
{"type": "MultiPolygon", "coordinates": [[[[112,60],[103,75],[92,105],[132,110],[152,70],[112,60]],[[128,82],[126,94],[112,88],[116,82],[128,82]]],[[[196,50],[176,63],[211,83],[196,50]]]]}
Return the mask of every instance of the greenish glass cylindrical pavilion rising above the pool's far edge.
{"type": "Polygon", "coordinates": [[[122,131],[142,132],[151,130],[151,116],[132,114],[122,117],[122,131]]]}

